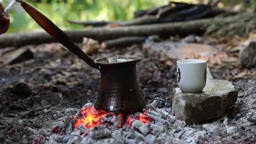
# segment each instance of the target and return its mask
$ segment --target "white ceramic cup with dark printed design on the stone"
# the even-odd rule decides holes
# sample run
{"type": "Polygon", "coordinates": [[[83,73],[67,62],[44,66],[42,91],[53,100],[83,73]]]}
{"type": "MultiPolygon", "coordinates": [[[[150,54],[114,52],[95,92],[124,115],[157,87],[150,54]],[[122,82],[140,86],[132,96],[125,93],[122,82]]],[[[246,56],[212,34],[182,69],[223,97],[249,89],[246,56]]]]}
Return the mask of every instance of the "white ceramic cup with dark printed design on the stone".
{"type": "Polygon", "coordinates": [[[182,92],[202,92],[206,84],[207,62],[201,59],[177,61],[177,82],[182,92]]]}

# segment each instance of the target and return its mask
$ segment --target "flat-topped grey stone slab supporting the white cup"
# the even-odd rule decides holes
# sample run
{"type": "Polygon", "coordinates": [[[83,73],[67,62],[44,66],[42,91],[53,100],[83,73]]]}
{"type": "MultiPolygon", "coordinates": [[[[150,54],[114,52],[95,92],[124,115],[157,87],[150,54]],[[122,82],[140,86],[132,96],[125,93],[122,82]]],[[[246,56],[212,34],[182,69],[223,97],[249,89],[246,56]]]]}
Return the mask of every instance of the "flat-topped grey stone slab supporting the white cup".
{"type": "Polygon", "coordinates": [[[236,103],[237,91],[230,81],[207,79],[202,93],[183,93],[176,87],[171,97],[172,115],[193,125],[222,116],[236,103]]]}

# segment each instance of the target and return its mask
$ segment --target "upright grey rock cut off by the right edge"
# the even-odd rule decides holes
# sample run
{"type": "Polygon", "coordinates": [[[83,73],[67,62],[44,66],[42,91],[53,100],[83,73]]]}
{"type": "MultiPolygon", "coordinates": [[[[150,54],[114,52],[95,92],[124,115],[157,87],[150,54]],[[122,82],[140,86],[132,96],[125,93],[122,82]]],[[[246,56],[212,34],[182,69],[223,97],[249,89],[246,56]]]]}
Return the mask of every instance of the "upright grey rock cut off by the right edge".
{"type": "Polygon", "coordinates": [[[245,49],[239,53],[239,60],[242,67],[254,67],[256,65],[256,40],[251,41],[245,49]]]}

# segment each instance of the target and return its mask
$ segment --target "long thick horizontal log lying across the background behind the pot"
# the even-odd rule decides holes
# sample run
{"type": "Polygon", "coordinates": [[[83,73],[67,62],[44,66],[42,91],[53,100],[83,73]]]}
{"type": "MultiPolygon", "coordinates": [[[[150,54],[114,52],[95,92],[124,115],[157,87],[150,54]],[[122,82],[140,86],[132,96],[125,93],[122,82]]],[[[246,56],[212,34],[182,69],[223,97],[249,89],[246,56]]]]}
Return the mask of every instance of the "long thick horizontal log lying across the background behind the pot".
{"type": "MultiPolygon", "coordinates": [[[[114,28],[98,27],[90,29],[68,29],[64,32],[77,43],[81,43],[84,37],[92,38],[100,42],[103,40],[131,36],[147,37],[149,35],[159,35],[160,37],[170,37],[171,35],[180,35],[181,37],[184,37],[188,34],[203,34],[206,28],[210,26],[212,20],[213,19],[201,19],[185,22],[114,28]]],[[[235,20],[232,17],[225,17],[224,19],[218,20],[220,23],[234,21],[235,20]]],[[[0,35],[0,48],[53,42],[57,41],[44,31],[0,35]]]]}

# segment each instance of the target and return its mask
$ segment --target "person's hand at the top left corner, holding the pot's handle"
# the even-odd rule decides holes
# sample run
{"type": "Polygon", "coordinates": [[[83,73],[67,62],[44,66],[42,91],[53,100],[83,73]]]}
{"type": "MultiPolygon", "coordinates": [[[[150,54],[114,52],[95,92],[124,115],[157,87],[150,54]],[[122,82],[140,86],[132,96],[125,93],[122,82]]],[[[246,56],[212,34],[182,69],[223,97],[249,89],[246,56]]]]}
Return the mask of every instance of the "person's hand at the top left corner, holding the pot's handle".
{"type": "Polygon", "coordinates": [[[4,7],[0,2],[0,34],[7,32],[10,24],[10,19],[8,16],[3,14],[4,7]]]}

